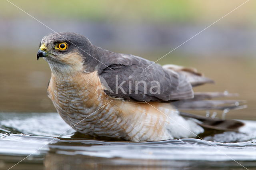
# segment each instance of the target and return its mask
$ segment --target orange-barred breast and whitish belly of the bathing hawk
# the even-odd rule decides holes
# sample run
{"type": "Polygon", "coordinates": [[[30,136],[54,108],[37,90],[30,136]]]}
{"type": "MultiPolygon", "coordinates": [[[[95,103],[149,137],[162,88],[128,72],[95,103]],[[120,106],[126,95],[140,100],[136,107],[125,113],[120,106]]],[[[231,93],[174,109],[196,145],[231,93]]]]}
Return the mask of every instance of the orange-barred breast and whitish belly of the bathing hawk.
{"type": "Polygon", "coordinates": [[[104,93],[97,72],[52,74],[48,95],[62,119],[83,134],[132,141],[191,136],[183,128],[187,121],[169,103],[112,99],[104,93]]]}

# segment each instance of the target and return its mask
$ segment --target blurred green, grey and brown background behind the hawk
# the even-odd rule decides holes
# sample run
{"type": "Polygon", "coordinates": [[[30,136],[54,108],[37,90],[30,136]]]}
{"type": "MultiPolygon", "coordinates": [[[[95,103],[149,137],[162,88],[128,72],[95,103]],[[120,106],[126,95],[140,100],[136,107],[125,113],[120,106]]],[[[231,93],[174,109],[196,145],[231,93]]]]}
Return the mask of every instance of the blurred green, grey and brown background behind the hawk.
{"type": "MultiPolygon", "coordinates": [[[[52,30],[78,32],[105,49],[156,61],[246,1],[10,2],[4,0],[0,7],[2,112],[56,111],[46,93],[50,68],[46,61],[36,61],[41,38],[52,30]]],[[[236,99],[247,100],[248,108],[232,111],[228,118],[256,120],[255,6],[256,1],[246,2],[158,61],[196,67],[216,81],[195,91],[240,93],[236,99]]]]}

